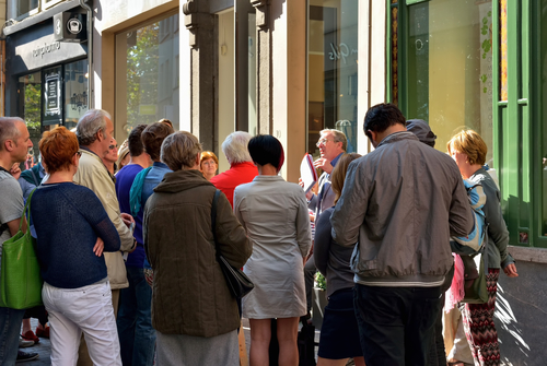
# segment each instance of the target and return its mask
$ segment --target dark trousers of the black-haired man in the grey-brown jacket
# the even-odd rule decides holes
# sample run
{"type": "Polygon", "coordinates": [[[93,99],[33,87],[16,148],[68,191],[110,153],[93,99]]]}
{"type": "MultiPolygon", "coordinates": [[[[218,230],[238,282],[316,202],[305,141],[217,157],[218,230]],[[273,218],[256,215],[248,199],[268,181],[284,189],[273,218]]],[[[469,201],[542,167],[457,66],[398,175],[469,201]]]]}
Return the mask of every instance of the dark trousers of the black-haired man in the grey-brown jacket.
{"type": "Polygon", "coordinates": [[[354,308],[366,366],[427,365],[441,287],[356,284],[354,308]]]}

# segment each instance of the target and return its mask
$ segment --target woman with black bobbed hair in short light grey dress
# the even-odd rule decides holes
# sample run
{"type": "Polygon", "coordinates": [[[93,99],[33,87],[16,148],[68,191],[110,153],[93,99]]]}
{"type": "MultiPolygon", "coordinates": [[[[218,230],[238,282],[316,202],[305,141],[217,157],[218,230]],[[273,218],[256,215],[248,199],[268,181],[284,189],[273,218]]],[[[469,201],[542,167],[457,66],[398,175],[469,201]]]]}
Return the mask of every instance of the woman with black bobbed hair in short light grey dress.
{"type": "Polygon", "coordinates": [[[243,298],[251,324],[251,365],[268,365],[270,319],[277,318],[279,365],[299,363],[299,317],[306,312],[304,261],[312,238],[304,191],[280,177],[284,155],[271,135],[251,139],[258,176],[235,188],[234,212],[253,244],[244,272],[255,288],[243,298]]]}

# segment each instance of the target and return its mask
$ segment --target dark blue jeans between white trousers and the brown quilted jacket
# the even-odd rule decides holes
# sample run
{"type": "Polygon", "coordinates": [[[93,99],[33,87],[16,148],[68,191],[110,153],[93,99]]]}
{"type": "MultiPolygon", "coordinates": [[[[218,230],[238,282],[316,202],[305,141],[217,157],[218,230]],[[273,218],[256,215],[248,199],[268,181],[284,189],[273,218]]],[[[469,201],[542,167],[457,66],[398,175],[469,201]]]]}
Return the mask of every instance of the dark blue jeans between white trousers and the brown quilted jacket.
{"type": "Polygon", "coordinates": [[[152,288],[142,268],[127,267],[129,287],[119,295],[118,335],[124,365],[153,363],[155,330],[152,328],[152,288]]]}

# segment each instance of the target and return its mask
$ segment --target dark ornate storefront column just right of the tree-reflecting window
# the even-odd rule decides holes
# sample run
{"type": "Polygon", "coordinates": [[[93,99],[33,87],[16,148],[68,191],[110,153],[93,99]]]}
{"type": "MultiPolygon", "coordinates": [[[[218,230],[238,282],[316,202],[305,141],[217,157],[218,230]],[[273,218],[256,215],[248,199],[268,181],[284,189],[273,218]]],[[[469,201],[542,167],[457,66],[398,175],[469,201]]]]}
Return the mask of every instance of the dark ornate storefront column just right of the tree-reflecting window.
{"type": "Polygon", "coordinates": [[[208,1],[187,1],[183,4],[184,23],[189,31],[190,46],[190,126],[203,150],[216,146],[214,128],[214,15],[208,1]]]}

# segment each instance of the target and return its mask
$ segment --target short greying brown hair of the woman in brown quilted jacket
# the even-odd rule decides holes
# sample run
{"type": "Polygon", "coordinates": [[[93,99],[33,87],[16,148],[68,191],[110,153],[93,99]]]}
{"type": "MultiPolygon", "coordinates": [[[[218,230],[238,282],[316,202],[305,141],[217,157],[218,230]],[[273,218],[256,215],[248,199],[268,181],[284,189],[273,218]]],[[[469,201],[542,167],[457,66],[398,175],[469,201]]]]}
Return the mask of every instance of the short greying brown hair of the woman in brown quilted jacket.
{"type": "Polygon", "coordinates": [[[161,160],[173,172],[193,168],[198,155],[201,156],[201,144],[190,132],[176,131],[163,140],[161,160]]]}

